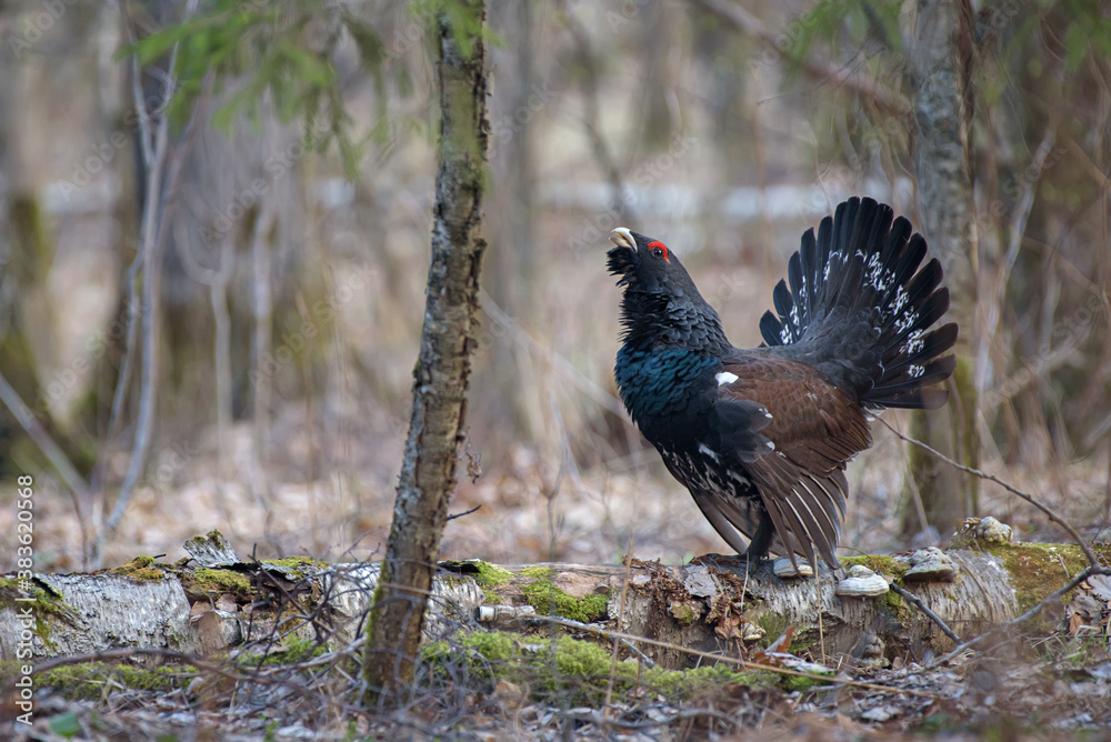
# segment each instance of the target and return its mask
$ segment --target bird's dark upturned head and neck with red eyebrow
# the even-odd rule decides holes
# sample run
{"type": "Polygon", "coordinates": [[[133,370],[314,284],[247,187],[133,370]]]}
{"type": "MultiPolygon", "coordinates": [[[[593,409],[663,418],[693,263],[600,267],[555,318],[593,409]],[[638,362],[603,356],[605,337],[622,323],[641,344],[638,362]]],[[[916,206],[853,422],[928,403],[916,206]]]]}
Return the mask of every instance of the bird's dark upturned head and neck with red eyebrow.
{"type": "Polygon", "coordinates": [[[650,237],[619,227],[610,234],[610,273],[625,288],[625,339],[662,339],[668,345],[728,347],[721,320],[698,292],[679,255],[650,237]]]}

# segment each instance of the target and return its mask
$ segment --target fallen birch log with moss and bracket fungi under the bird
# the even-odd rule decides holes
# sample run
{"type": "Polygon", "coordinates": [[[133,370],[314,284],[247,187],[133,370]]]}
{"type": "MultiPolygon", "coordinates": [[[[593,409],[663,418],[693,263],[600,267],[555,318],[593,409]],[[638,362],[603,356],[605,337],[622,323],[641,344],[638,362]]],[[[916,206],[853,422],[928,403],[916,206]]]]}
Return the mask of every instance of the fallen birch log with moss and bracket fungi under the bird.
{"type": "MultiPolygon", "coordinates": [[[[187,544],[193,559],[174,564],[140,556],[108,572],[40,574],[29,583],[0,580],[0,659],[121,646],[223,652],[268,638],[321,640],[339,648],[360,631],[377,564],[329,565],[306,558],[243,562],[226,542],[208,550],[201,548],[206,542],[211,547],[222,537],[193,540],[196,550],[187,544]]],[[[911,582],[908,561],[897,556],[844,561],[845,566],[865,564],[914,593],[965,640],[1014,618],[1087,565],[1079,549],[1060,544],[970,541],[948,556],[955,578],[934,582],[911,582]]],[[[792,651],[813,646],[814,654],[819,636],[827,654],[880,662],[908,650],[921,656],[952,646],[933,621],[897,593],[842,596],[835,576],[824,570],[815,581],[782,580],[769,564],[745,576],[725,562],[499,566],[453,561],[440,566],[428,636],[483,628],[549,635],[554,622],[547,616],[560,616],[559,630],[570,633],[584,632],[573,625],[578,622],[732,654],[739,643],[764,646],[789,626],[794,626],[792,651]]],[[[1060,616],[1060,611],[1050,613],[1049,620],[1060,616]]],[[[642,642],[639,649],[664,668],[697,661],[654,643],[642,642]]]]}

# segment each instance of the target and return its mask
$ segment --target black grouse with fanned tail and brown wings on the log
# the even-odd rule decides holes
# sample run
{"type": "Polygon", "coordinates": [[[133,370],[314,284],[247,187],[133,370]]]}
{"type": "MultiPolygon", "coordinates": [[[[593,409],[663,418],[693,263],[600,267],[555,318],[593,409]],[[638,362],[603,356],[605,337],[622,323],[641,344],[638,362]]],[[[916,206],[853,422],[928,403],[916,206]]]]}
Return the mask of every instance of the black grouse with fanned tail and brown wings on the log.
{"type": "Polygon", "coordinates": [[[624,285],[621,399],[671,474],[749,563],[769,550],[832,568],[845,464],[872,444],[868,414],[937,409],[957,325],[941,264],[890,207],[838,205],[788,264],[760,320],[760,348],[734,348],[679,257],[620,228],[609,270],[624,285]],[[738,532],[749,539],[745,545],[738,532]]]}

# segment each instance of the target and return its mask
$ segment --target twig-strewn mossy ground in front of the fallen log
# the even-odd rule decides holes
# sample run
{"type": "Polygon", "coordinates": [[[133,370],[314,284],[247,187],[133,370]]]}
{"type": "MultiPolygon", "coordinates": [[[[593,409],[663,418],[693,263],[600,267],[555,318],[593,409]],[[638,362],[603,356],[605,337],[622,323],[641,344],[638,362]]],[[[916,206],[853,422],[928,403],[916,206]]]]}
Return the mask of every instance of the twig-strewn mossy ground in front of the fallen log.
{"type": "Polygon", "coordinates": [[[1111,739],[1107,636],[1029,639],[1013,636],[938,668],[838,675],[868,688],[792,690],[751,674],[681,689],[645,679],[619,682],[609,703],[604,675],[560,675],[543,658],[531,668],[510,669],[497,658],[479,658],[480,664],[479,655],[458,652],[424,665],[412,701],[389,713],[360,708],[360,686],[344,676],[342,662],[223,663],[219,672],[169,666],[150,673],[154,690],[133,686],[141,684],[138,671],[83,664],[67,669],[80,685],[64,695],[40,692],[33,725],[14,724],[6,739],[1111,739]]]}

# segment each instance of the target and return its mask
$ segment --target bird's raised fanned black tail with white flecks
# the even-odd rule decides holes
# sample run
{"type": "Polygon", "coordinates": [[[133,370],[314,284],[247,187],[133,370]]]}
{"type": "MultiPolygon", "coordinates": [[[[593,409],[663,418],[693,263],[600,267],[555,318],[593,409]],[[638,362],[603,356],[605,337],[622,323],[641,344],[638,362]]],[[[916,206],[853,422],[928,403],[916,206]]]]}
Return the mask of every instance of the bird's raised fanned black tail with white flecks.
{"type": "Polygon", "coordinates": [[[934,409],[935,384],[955,365],[942,355],[957,325],[932,328],[949,309],[937,259],[909,221],[872,199],[850,199],[808,230],[760,320],[764,343],[808,360],[873,408],[934,409]]]}

